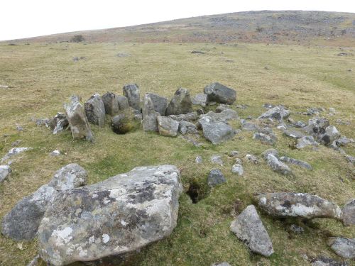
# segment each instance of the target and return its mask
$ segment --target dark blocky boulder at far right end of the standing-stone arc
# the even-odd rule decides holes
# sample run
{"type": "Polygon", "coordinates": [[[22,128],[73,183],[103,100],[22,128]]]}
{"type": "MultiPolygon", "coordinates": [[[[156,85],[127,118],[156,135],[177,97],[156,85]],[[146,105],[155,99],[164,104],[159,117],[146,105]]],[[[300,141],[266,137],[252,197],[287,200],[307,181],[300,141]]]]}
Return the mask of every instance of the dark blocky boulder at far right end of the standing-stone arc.
{"type": "Polygon", "coordinates": [[[218,82],[204,87],[204,94],[207,94],[207,103],[216,101],[219,104],[233,104],[236,101],[236,91],[218,82]]]}

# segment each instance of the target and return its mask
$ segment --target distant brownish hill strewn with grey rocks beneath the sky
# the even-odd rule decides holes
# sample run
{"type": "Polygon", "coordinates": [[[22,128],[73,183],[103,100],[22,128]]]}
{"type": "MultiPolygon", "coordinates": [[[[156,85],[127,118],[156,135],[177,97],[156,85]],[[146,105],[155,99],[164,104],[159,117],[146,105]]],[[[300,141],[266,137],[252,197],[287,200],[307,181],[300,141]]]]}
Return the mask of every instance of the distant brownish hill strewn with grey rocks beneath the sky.
{"type": "Polygon", "coordinates": [[[77,34],[83,35],[87,42],[247,42],[355,46],[355,13],[248,11],[16,41],[65,42],[77,34]]]}

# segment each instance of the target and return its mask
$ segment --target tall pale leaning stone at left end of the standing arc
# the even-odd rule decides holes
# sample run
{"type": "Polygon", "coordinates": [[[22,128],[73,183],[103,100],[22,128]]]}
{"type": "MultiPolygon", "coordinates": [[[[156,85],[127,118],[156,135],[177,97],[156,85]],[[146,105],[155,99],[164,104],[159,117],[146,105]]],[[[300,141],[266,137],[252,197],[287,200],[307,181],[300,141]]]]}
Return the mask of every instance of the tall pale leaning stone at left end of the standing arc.
{"type": "Polygon", "coordinates": [[[89,141],[94,141],[94,135],[85,116],[84,106],[80,102],[79,96],[71,96],[69,103],[64,105],[67,120],[69,121],[72,138],[85,138],[89,141]]]}

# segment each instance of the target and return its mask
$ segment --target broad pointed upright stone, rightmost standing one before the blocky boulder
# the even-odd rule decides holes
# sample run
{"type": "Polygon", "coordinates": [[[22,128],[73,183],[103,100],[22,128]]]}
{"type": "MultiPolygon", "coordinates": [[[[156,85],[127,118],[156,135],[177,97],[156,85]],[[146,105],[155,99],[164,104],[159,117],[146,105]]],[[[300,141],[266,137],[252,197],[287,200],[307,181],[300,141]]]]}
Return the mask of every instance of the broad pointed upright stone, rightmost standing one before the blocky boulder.
{"type": "Polygon", "coordinates": [[[190,99],[190,92],[188,89],[179,88],[171,99],[168,108],[166,109],[166,116],[172,114],[190,113],[192,111],[192,102],[190,99]]]}

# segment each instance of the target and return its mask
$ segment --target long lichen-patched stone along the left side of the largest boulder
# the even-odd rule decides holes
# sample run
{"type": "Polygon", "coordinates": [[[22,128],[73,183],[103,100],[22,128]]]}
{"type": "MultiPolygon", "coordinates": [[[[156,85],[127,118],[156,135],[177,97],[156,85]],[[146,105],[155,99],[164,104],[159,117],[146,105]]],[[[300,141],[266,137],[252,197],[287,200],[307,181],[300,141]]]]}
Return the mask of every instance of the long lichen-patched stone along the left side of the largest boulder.
{"type": "Polygon", "coordinates": [[[15,240],[35,237],[40,221],[58,191],[80,187],[87,182],[87,172],[77,164],[70,164],[55,172],[53,179],[35,193],[18,201],[4,216],[1,233],[15,240]]]}

